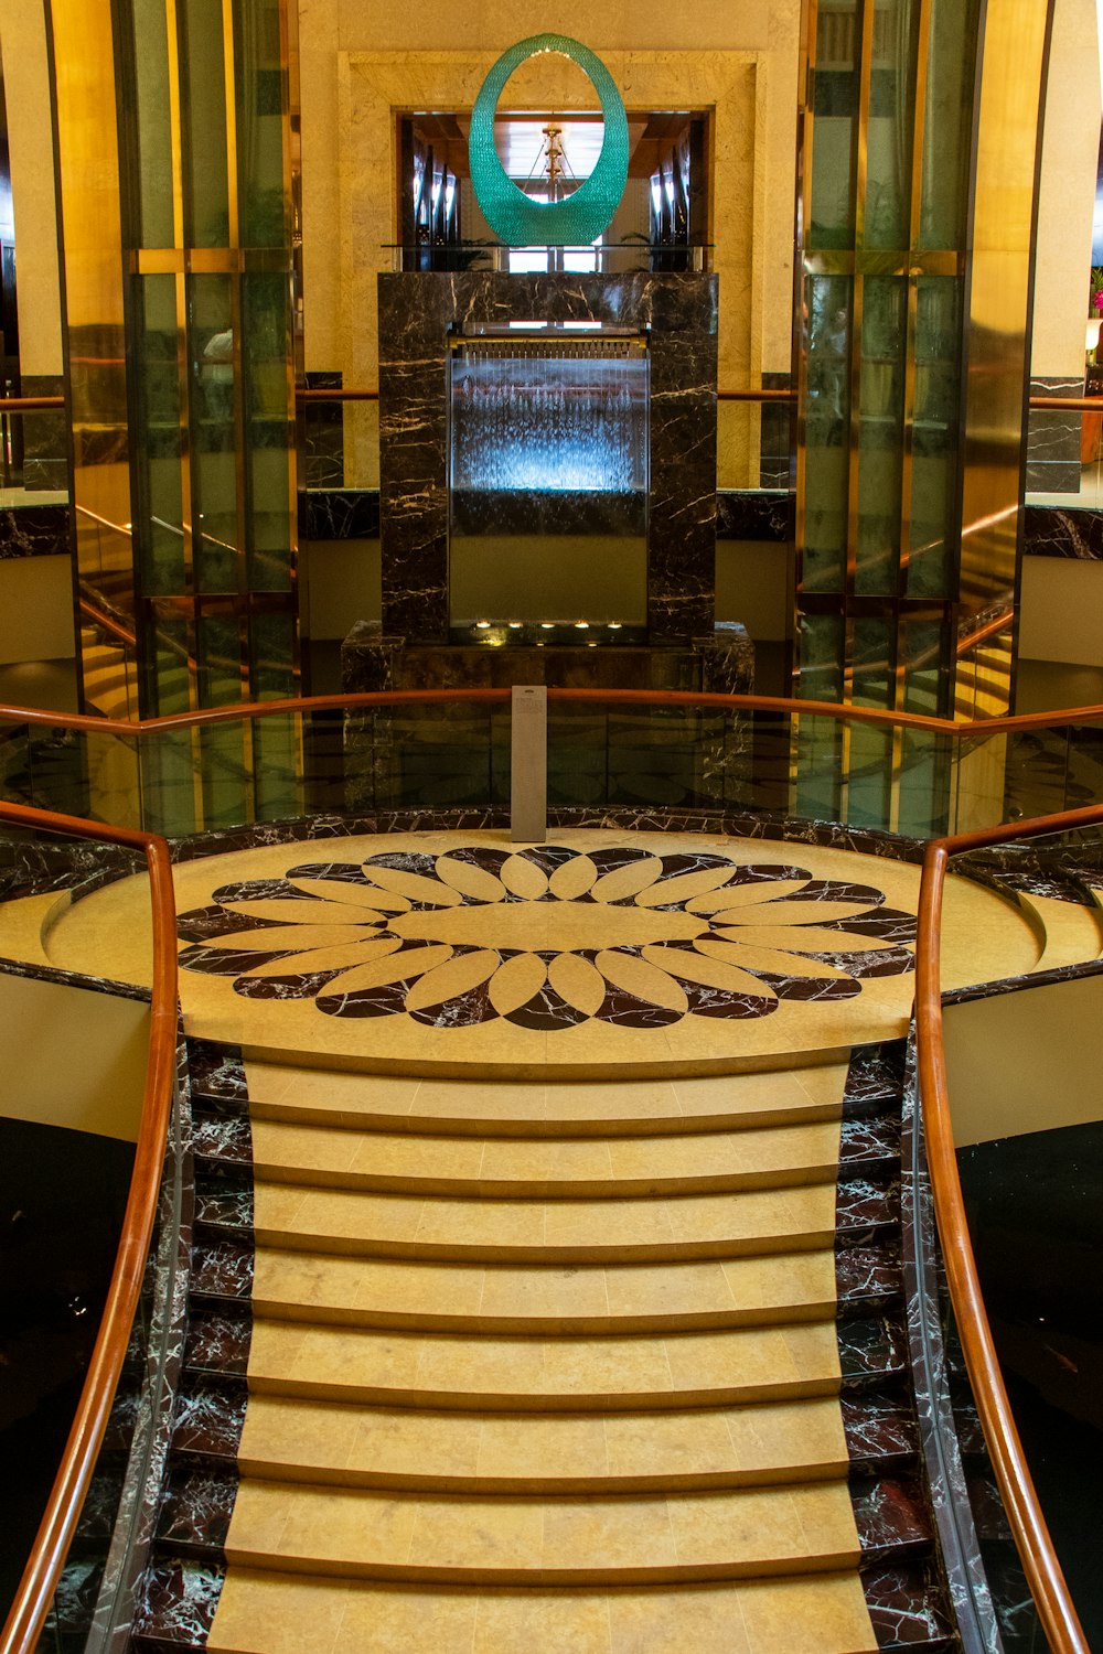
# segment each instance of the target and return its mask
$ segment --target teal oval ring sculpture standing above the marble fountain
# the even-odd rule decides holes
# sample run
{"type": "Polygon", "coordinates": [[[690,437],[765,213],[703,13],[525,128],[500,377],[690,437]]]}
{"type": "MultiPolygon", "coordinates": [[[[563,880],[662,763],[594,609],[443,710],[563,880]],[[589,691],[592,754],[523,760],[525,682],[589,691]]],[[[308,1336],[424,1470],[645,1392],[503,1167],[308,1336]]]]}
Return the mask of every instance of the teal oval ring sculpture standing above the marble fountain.
{"type": "Polygon", "coordinates": [[[628,182],[628,117],[602,60],[571,35],[529,35],[493,66],[471,112],[471,185],[488,225],[509,246],[587,246],[620,205],[628,182]],[[494,111],[513,71],[541,51],[557,51],[589,74],[602,104],[605,136],[589,179],[564,202],[534,202],[518,189],[494,149],[494,111]]]}

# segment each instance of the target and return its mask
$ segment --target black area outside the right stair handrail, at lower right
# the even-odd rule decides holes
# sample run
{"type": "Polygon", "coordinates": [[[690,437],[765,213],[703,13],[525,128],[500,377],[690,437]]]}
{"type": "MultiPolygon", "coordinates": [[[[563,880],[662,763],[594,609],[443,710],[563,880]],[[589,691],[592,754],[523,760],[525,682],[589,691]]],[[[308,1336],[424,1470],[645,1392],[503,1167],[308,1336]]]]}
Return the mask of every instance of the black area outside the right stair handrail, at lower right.
{"type": "Polygon", "coordinates": [[[1022,1444],[1103,1649],[1103,1123],[974,1145],[957,1163],[1022,1444]]]}

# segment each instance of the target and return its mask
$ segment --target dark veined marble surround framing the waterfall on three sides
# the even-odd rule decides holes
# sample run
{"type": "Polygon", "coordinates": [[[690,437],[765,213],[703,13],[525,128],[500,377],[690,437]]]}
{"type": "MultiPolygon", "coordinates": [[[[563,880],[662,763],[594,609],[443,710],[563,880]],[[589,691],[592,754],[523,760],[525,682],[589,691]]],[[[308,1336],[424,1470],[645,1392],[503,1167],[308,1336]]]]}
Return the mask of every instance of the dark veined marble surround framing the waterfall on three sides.
{"type": "Polygon", "coordinates": [[[650,635],[711,630],[716,303],[716,278],[693,273],[380,275],[384,630],[422,643],[448,637],[448,331],[528,318],[650,329],[650,635]]]}

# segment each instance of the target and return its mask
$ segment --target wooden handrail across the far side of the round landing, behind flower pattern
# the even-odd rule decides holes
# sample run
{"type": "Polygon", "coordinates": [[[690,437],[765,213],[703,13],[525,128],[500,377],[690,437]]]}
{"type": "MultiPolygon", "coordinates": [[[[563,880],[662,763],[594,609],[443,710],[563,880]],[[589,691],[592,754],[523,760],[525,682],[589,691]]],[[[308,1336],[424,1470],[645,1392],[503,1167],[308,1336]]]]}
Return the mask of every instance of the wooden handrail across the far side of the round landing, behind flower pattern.
{"type": "MultiPolygon", "coordinates": [[[[279,713],[341,711],[370,706],[415,706],[448,701],[488,701],[504,705],[508,688],[476,690],[372,690],[359,695],[304,695],[273,701],[230,701],[203,711],[172,713],[165,718],[98,718],[84,713],[55,713],[40,706],[0,705],[0,723],[25,723],[55,729],[83,729],[88,734],[121,738],[155,734],[159,729],[187,729],[213,723],[271,718],[279,713]]],[[[1062,728],[1072,723],[1103,719],[1103,706],[1067,706],[1048,713],[1025,713],[1014,718],[929,718],[923,713],[885,711],[878,706],[840,705],[838,701],[804,701],[784,695],[719,695],[696,690],[574,690],[549,688],[549,701],[589,701],[612,706],[729,706],[733,711],[782,713],[805,718],[833,718],[837,723],[868,723],[891,729],[923,729],[964,739],[977,734],[1010,734],[1024,729],[1062,728]]]]}

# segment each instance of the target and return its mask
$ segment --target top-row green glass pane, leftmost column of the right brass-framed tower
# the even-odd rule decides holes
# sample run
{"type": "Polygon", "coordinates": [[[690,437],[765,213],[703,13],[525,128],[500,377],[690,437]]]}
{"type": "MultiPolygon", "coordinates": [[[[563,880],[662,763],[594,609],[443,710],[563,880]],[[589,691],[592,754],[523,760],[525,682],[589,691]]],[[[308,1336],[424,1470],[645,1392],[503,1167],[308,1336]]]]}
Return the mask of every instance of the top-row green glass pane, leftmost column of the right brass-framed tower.
{"type": "Polygon", "coordinates": [[[812,212],[807,245],[853,246],[853,146],[858,126],[858,0],[820,7],[815,25],[812,212]]]}

